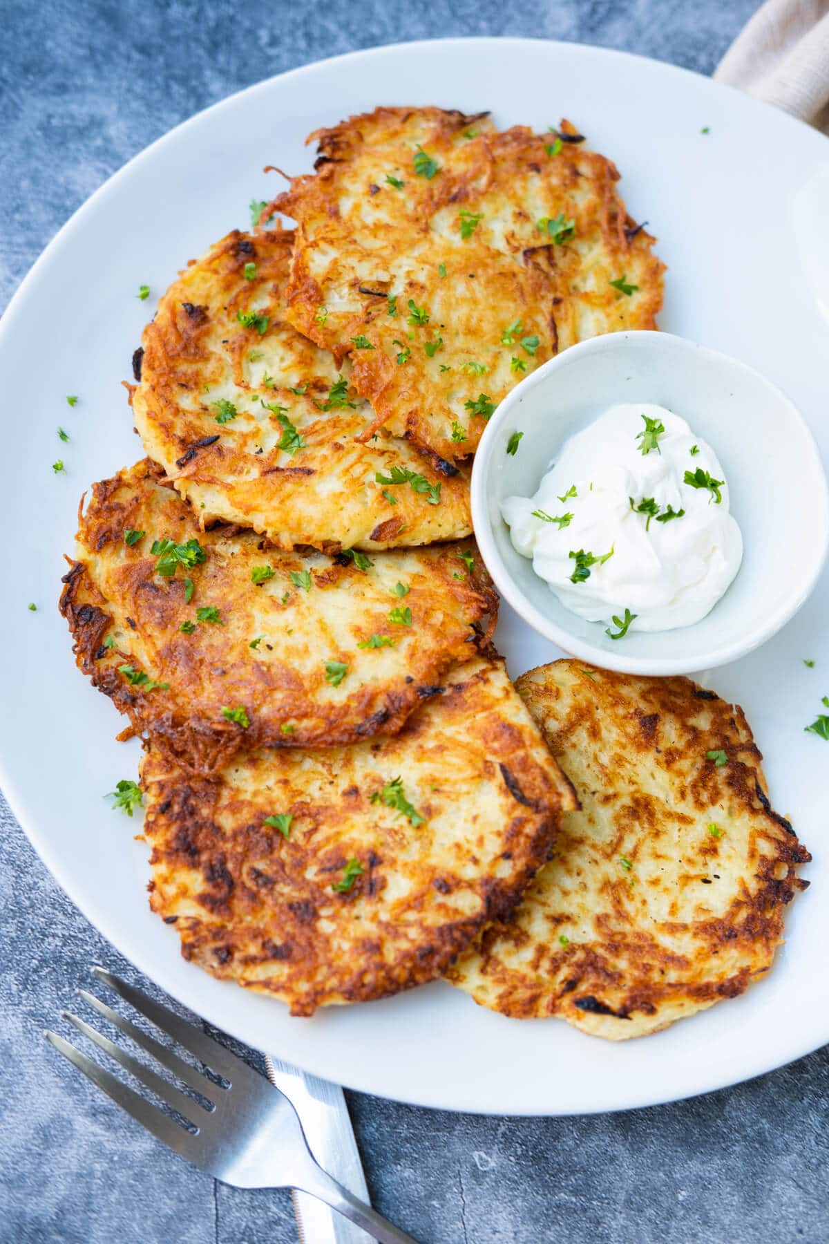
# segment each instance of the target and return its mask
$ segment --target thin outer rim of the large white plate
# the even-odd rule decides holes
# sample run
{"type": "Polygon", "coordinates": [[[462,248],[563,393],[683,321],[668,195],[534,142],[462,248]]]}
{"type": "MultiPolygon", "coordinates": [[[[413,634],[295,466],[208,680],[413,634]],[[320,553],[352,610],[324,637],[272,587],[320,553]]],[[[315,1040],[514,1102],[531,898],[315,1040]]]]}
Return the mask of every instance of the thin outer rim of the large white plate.
{"type": "MultiPolygon", "coordinates": [[[[61,245],[67,239],[70,239],[73,231],[82,224],[83,216],[87,213],[87,210],[91,210],[93,205],[97,205],[102,199],[107,197],[107,194],[112,193],[113,189],[116,189],[119,185],[122,178],[128,177],[137,165],[140,165],[142,160],[144,160],[145,158],[150,158],[152,154],[154,154],[159,148],[163,148],[165,144],[168,143],[172,144],[179,141],[181,138],[183,132],[186,132],[189,127],[194,128],[195,126],[200,124],[205,118],[209,118],[214,113],[214,111],[221,109],[232,101],[239,101],[241,97],[254,98],[260,92],[266,93],[273,82],[277,81],[283,82],[285,80],[290,80],[297,76],[308,77],[313,76],[317,72],[327,72],[331,70],[332,66],[344,66],[348,65],[349,62],[357,62],[357,61],[364,62],[384,57],[388,55],[418,56],[429,49],[434,49],[436,45],[440,45],[447,50],[455,49],[459,51],[469,50],[470,46],[472,45],[475,46],[497,45],[498,49],[501,50],[503,50],[506,45],[510,45],[512,49],[520,51],[522,46],[526,47],[529,45],[532,47],[543,46],[558,51],[566,50],[568,55],[584,57],[585,60],[598,57],[600,60],[609,58],[611,61],[623,61],[634,63],[645,62],[649,66],[649,71],[651,72],[653,71],[660,72],[666,78],[675,78],[676,75],[687,76],[690,78],[697,80],[701,83],[705,83],[705,88],[712,91],[715,95],[720,93],[723,97],[727,97],[730,101],[732,101],[732,103],[735,101],[738,101],[740,107],[749,107],[752,111],[759,109],[761,113],[773,116],[776,118],[776,124],[778,126],[783,124],[784,127],[794,127],[794,129],[800,134],[800,139],[805,133],[812,133],[814,136],[815,158],[819,158],[820,152],[823,152],[824,157],[829,154],[829,147],[823,146],[827,142],[827,138],[823,134],[813,129],[805,122],[790,116],[789,113],[783,112],[782,109],[774,107],[773,104],[747,96],[736,87],[732,87],[727,83],[717,82],[713,78],[703,73],[700,73],[695,70],[690,70],[679,65],[672,65],[671,62],[655,60],[653,57],[643,56],[641,53],[636,52],[623,51],[613,47],[602,47],[594,44],[579,44],[579,42],[569,42],[566,40],[524,37],[524,36],[507,36],[507,37],[460,36],[460,37],[447,37],[437,40],[423,39],[423,40],[411,40],[396,44],[383,44],[379,46],[373,46],[367,49],[355,49],[349,52],[339,53],[337,56],[309,61],[305,65],[295,66],[293,68],[286,70],[281,73],[271,75],[266,78],[260,80],[259,82],[251,83],[247,87],[242,87],[239,91],[235,91],[231,95],[215,101],[208,107],[200,109],[193,116],[179,122],[172,129],[160,134],[152,143],[149,143],[147,147],[142,148],[133,157],[131,157],[131,159],[127,160],[123,165],[121,165],[121,168],[118,168],[114,173],[112,173],[83,203],[78,205],[78,208],[76,208],[76,210],[63,223],[63,225],[61,225],[61,228],[57,230],[57,233],[47,243],[47,245],[44,248],[44,250],[37,256],[35,262],[31,265],[29,271],[25,274],[17,289],[14,291],[5,311],[2,312],[2,316],[0,317],[0,364],[2,361],[2,352],[5,347],[6,336],[12,331],[16,323],[17,315],[20,313],[20,307],[25,297],[27,296],[29,290],[34,284],[36,284],[37,279],[40,277],[42,269],[48,264],[51,256],[60,250],[61,245]]],[[[210,1006],[205,1008],[204,1003],[208,1001],[208,999],[204,999],[198,1001],[199,1009],[198,1010],[195,1009],[194,1003],[190,1000],[190,996],[191,993],[198,993],[198,985],[193,991],[183,989],[180,986],[172,989],[169,982],[167,982],[165,979],[167,978],[165,962],[162,962],[160,959],[157,960],[152,950],[147,952],[145,954],[143,948],[139,944],[137,944],[133,948],[131,948],[129,953],[126,953],[121,948],[118,934],[114,928],[117,926],[117,919],[114,917],[111,918],[106,913],[104,904],[96,903],[93,901],[81,902],[71,889],[67,889],[65,887],[65,883],[61,880],[61,868],[60,866],[53,865],[53,855],[48,836],[41,831],[39,825],[29,824],[29,817],[24,812],[26,797],[22,790],[17,789],[16,779],[6,764],[5,754],[0,754],[0,786],[2,787],[2,791],[6,796],[6,800],[15,819],[17,820],[17,824],[22,829],[29,842],[31,843],[31,846],[34,847],[41,861],[47,867],[52,878],[61,887],[63,893],[67,894],[73,906],[93,926],[93,928],[96,928],[113,945],[113,948],[121,955],[123,955],[123,958],[126,958],[138,972],[143,973],[148,979],[150,979],[155,985],[158,985],[158,988],[163,989],[167,994],[169,994],[181,1005],[186,1006],[195,1014],[204,1016],[221,1030],[231,1033],[234,1035],[239,1035],[239,1029],[232,1023],[232,1014],[221,1010],[220,1005],[211,1004],[210,1006]],[[91,909],[96,911],[96,916],[92,916],[89,913],[91,909]],[[145,962],[145,959],[149,962],[145,962]]],[[[196,974],[199,973],[199,969],[194,968],[193,972],[194,974],[196,974]]],[[[196,978],[194,977],[194,979],[196,978]]],[[[227,983],[225,984],[227,990],[237,988],[227,983]]],[[[242,1040],[245,1044],[251,1045],[249,1037],[240,1036],[239,1039],[242,1040]]],[[[751,1056],[748,1056],[746,1059],[744,1066],[741,1067],[741,1070],[736,1071],[735,1074],[726,1072],[725,1079],[722,1077],[722,1074],[715,1075],[713,1077],[706,1075],[705,1069],[702,1069],[697,1074],[696,1077],[697,1082],[690,1084],[686,1088],[684,1088],[680,1092],[670,1090],[656,1093],[650,1092],[646,1093],[645,1096],[643,1096],[640,1092],[638,1096],[611,1102],[609,1105],[585,1105],[579,1110],[570,1110],[567,1113],[593,1115],[593,1113],[636,1110],[646,1106],[657,1106],[657,1105],[664,1105],[666,1102],[682,1101],[689,1097],[698,1096],[701,1093],[718,1091],[721,1088],[726,1088],[732,1085],[751,1080],[758,1075],[763,1075],[769,1071],[777,1070],[779,1067],[787,1066],[788,1064],[795,1061],[797,1059],[803,1057],[807,1054],[810,1054],[815,1049],[819,1049],[822,1045],[825,1044],[827,1040],[829,1040],[829,1031],[827,1033],[827,1036],[823,1040],[819,1040],[817,1042],[812,1037],[809,1037],[802,1047],[798,1046],[797,1049],[794,1049],[793,1052],[787,1052],[783,1056],[783,1059],[779,1059],[779,1055],[774,1055],[772,1062],[768,1061],[768,1057],[754,1056],[752,1059],[751,1056]]],[[[252,1047],[259,1047],[259,1046],[252,1046],[252,1047]]],[[[303,1064],[303,1070],[308,1071],[309,1074],[318,1075],[322,1079],[328,1077],[326,1067],[321,1066],[319,1061],[313,1056],[308,1060],[307,1064],[303,1064]]],[[[354,1076],[347,1077],[342,1082],[344,1084],[346,1087],[350,1087],[359,1092],[367,1092],[374,1095],[378,1093],[377,1087],[372,1086],[370,1072],[363,1074],[362,1069],[359,1069],[359,1074],[357,1074],[355,1069],[354,1076]]],[[[539,1105],[537,1110],[515,1110],[515,1108],[505,1110],[497,1107],[493,1108],[491,1105],[487,1105],[486,1102],[482,1103],[470,1102],[469,1100],[466,1100],[466,1097],[461,1100],[460,1097],[456,1096],[455,1100],[446,1100],[445,1095],[441,1096],[440,1093],[433,1097],[431,1100],[426,1101],[418,1100],[406,1096],[405,1090],[403,1090],[401,1092],[392,1092],[389,1091],[388,1085],[385,1085],[380,1090],[380,1092],[383,1096],[387,1096],[390,1100],[401,1101],[409,1105],[430,1110],[449,1110],[465,1113],[492,1115],[498,1117],[505,1117],[505,1116],[566,1117],[562,1116],[562,1112],[559,1111],[551,1112],[547,1103],[539,1105]]]]}

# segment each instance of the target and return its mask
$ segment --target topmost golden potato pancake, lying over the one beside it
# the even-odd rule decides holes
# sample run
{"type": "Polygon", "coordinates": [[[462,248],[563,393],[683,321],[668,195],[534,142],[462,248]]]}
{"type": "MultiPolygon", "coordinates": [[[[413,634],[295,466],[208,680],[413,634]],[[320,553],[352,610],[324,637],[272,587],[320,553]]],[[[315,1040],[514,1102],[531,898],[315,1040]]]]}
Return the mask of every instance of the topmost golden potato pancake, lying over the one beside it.
{"type": "Polygon", "coordinates": [[[313,139],[316,173],[272,204],[298,225],[287,318],[350,355],[377,412],[365,435],[385,427],[464,458],[539,363],[656,326],[654,239],[569,122],[498,132],[460,112],[377,108],[313,139]]]}

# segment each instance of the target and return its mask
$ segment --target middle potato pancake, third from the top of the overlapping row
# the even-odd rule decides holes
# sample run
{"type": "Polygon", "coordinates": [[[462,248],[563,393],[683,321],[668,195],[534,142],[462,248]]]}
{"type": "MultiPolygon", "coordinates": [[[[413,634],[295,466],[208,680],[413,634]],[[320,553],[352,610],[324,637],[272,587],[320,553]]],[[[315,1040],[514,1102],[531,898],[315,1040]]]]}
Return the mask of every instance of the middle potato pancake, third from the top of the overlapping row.
{"type": "Polygon", "coordinates": [[[394,734],[488,649],[471,541],[329,557],[196,513],[147,460],[94,484],[61,597],[80,668],[183,764],[394,734]]]}

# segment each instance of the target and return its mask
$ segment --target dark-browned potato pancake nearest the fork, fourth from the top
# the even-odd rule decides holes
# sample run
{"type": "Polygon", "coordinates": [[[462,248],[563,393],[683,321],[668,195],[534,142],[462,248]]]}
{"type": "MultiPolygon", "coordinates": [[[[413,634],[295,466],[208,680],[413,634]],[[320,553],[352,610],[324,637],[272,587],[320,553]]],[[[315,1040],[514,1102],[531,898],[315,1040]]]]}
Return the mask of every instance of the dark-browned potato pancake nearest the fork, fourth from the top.
{"type": "Polygon", "coordinates": [[[150,906],[186,959],[295,1015],[439,977],[510,913],[572,790],[500,661],[456,667],[392,739],[142,765],[150,906]]]}

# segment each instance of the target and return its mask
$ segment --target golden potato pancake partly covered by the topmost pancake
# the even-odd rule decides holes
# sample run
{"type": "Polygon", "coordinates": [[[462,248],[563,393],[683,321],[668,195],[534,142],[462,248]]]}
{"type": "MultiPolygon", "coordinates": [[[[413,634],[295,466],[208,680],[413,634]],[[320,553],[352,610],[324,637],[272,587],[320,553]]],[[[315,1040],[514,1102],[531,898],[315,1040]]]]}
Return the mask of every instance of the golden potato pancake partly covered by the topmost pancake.
{"type": "Polygon", "coordinates": [[[231,233],[159,302],[134,360],[144,449],[205,520],[280,549],[388,549],[471,530],[469,471],[405,440],[357,440],[374,412],[283,317],[293,234],[231,233]]]}

